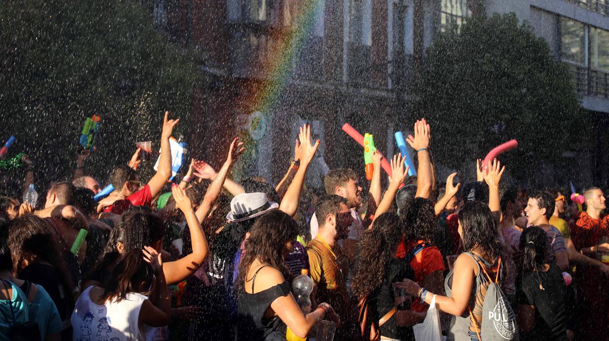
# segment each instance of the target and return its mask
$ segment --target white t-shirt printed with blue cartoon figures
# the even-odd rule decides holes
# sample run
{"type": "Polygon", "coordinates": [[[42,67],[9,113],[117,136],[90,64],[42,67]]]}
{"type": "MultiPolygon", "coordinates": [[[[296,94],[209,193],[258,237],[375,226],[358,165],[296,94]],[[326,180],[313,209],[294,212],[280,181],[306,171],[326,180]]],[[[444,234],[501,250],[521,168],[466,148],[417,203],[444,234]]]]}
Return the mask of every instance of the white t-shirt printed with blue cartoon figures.
{"type": "Polygon", "coordinates": [[[91,288],[85,289],[72,312],[74,341],[135,341],[144,340],[139,330],[139,310],[148,298],[140,293],[128,293],[118,303],[106,301],[103,306],[91,301],[91,288]]]}

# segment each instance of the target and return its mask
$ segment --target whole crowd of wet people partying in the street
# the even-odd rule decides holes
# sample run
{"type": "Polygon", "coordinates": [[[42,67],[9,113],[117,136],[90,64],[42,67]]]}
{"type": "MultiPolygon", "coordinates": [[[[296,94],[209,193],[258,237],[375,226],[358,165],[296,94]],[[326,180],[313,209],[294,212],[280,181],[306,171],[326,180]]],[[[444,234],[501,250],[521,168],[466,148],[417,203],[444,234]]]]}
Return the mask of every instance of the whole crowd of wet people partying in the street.
{"type": "Polygon", "coordinates": [[[446,340],[609,338],[600,188],[578,208],[562,188],[505,184],[496,159],[476,161],[477,181],[440,182],[424,119],[407,138],[417,175],[393,156],[387,188],[376,152],[369,183],[341,168],[307,188],[320,141],[306,124],[276,185],[228,178],[238,138],[219,170],[192,160],[169,181],[177,124],[165,113],[152,178],[139,178],[138,149],[99,201],[86,153],[34,204],[21,202],[32,160],[24,180],[2,176],[0,339],[302,340],[326,320],[337,341],[414,340],[429,304],[446,340]],[[310,307],[292,293],[301,273],[310,307]]]}

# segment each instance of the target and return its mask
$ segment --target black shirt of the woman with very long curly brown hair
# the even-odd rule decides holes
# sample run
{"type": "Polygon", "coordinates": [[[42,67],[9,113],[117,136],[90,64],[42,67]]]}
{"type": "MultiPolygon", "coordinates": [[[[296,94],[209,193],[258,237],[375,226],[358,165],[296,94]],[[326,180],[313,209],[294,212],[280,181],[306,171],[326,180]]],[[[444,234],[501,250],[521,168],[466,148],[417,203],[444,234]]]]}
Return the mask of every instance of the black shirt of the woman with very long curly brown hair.
{"type": "MultiPolygon", "coordinates": [[[[394,282],[401,282],[404,278],[412,279],[414,281],[415,274],[412,267],[407,259],[394,258],[391,262],[385,265],[387,270],[383,278],[382,284],[376,287],[373,292],[368,296],[369,309],[375,316],[376,321],[382,318],[389,310],[395,306],[395,296],[393,295],[394,282]]],[[[389,320],[387,320],[381,326],[381,335],[390,337],[391,339],[400,340],[414,340],[414,334],[412,334],[412,326],[398,327],[396,325],[396,316],[393,314],[389,320]]]]}

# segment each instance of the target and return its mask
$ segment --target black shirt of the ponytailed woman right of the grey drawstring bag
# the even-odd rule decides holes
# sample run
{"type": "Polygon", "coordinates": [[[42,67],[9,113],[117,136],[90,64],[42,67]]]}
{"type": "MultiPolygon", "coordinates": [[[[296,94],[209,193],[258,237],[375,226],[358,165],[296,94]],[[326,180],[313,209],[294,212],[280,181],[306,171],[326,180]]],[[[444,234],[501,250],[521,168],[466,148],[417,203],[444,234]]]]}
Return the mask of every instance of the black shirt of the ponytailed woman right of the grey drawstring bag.
{"type": "Polygon", "coordinates": [[[535,326],[529,332],[522,332],[521,340],[567,341],[566,334],[566,285],[563,274],[554,263],[546,272],[538,268],[524,273],[517,282],[518,304],[535,306],[535,326]],[[544,290],[540,289],[540,279],[544,290]]]}

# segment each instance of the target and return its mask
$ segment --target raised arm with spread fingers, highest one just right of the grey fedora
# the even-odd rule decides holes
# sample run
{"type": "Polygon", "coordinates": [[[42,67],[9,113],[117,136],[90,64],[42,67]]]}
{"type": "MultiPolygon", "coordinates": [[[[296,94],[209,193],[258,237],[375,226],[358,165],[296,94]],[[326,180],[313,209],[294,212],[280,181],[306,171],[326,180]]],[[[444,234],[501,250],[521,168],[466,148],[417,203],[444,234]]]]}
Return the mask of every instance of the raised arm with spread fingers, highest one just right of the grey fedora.
{"type": "Polygon", "coordinates": [[[311,145],[311,126],[308,126],[307,124],[300,127],[298,139],[303,148],[300,167],[298,167],[298,170],[296,171],[294,180],[292,180],[292,183],[287,187],[286,195],[281,199],[281,204],[279,206],[279,209],[286,214],[289,214],[290,217],[294,217],[296,214],[298,201],[300,201],[300,192],[303,188],[303,183],[305,182],[306,169],[315,156],[317,147],[319,147],[319,140],[317,140],[314,145],[311,145]]]}

